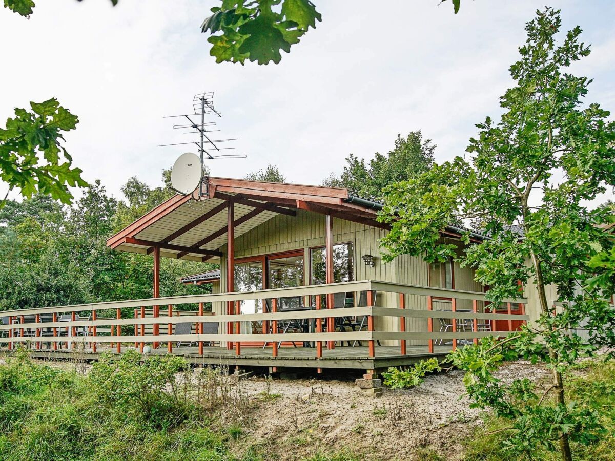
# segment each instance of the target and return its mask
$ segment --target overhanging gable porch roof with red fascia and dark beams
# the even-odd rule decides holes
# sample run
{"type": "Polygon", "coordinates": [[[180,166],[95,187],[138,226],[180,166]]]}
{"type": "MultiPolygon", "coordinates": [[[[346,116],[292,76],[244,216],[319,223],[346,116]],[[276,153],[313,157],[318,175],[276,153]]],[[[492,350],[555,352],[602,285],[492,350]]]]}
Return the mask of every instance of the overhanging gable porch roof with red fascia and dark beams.
{"type": "Polygon", "coordinates": [[[375,211],[347,203],[346,189],[275,184],[244,179],[207,178],[201,200],[175,195],[107,240],[120,251],[149,254],[161,248],[165,258],[216,260],[226,244],[228,202],[234,202],[235,238],[274,216],[296,215],[296,209],[383,227],[375,211]]]}

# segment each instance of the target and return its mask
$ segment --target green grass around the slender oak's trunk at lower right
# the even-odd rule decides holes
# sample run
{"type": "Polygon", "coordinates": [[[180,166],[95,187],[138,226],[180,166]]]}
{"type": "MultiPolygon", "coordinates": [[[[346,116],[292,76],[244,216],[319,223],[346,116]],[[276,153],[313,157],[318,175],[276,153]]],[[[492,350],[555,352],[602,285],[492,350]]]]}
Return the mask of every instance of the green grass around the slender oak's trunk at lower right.
{"type": "MultiPolygon", "coordinates": [[[[595,410],[602,427],[603,436],[596,443],[585,446],[573,444],[573,456],[578,461],[615,461],[615,363],[587,360],[575,367],[567,389],[567,400],[595,410]]],[[[477,430],[476,438],[466,443],[467,461],[559,461],[559,452],[539,449],[523,455],[513,454],[504,448],[506,431],[483,436],[505,428],[510,424],[499,419],[488,420],[486,426],[477,430]]]]}

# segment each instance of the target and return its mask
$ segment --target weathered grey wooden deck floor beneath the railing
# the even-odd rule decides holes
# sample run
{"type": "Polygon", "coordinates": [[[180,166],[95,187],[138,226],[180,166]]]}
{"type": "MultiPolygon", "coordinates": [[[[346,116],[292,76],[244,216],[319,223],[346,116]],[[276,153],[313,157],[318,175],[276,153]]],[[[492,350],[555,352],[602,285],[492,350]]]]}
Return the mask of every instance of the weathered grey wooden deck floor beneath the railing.
{"type": "MultiPolygon", "coordinates": [[[[122,350],[133,349],[132,347],[122,347],[122,350]]],[[[43,359],[64,359],[75,360],[77,357],[81,360],[97,360],[101,353],[105,351],[114,352],[110,348],[98,348],[97,352],[90,349],[73,351],[73,350],[32,350],[33,358],[43,359]]],[[[437,357],[443,358],[450,352],[450,345],[434,346],[434,353],[429,353],[427,346],[411,346],[407,347],[407,354],[400,355],[399,347],[397,346],[376,346],[376,357],[368,356],[368,347],[341,347],[322,351],[322,357],[316,357],[316,350],[312,347],[280,347],[277,357],[272,357],[271,347],[263,349],[262,347],[243,347],[241,355],[235,355],[234,350],[228,350],[224,347],[205,347],[203,355],[198,354],[197,347],[175,347],[173,354],[185,357],[189,363],[197,365],[213,365],[213,366],[235,366],[242,367],[277,367],[277,368],[327,368],[327,369],[364,369],[364,370],[382,370],[389,366],[403,366],[416,363],[417,361],[437,357]]],[[[6,355],[11,354],[10,351],[4,351],[6,355]]],[[[166,345],[162,345],[159,349],[155,349],[152,354],[167,353],[166,345]]]]}

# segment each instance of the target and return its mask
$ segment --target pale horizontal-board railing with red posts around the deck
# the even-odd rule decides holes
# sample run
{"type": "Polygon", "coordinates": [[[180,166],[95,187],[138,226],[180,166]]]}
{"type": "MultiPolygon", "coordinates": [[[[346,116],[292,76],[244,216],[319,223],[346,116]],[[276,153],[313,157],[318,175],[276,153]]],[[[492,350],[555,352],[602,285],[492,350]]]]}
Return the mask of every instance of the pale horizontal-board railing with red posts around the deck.
{"type": "Polygon", "coordinates": [[[120,353],[122,347],[127,345],[135,345],[135,347],[140,347],[143,350],[145,344],[153,344],[154,347],[157,347],[160,343],[167,342],[167,349],[172,352],[173,342],[195,342],[199,346],[199,354],[202,355],[205,342],[219,342],[221,345],[226,345],[228,349],[234,349],[236,355],[240,355],[242,344],[260,341],[261,344],[269,345],[272,356],[276,357],[280,342],[304,342],[315,344],[315,357],[322,357],[323,346],[333,349],[338,341],[365,341],[368,344],[368,355],[375,357],[376,342],[394,341],[399,344],[400,353],[405,355],[407,353],[407,342],[413,340],[427,341],[429,352],[434,352],[435,341],[449,340],[454,349],[458,342],[463,340],[471,339],[476,342],[478,338],[485,336],[507,336],[513,331],[511,328],[512,320],[526,322],[529,317],[525,315],[525,304],[527,302],[525,298],[505,299],[504,302],[507,305],[507,313],[481,312],[485,310],[485,305],[488,303],[484,293],[402,285],[376,280],[250,292],[171,296],[1,312],[0,315],[3,318],[9,319],[9,324],[0,326],[2,333],[0,344],[6,344],[8,349],[13,349],[16,344],[23,342],[34,342],[36,348],[41,348],[42,343],[50,343],[53,345],[53,349],[57,350],[58,345],[63,343],[77,342],[89,345],[93,352],[96,352],[98,344],[106,343],[115,345],[116,352],[120,353]],[[363,291],[367,293],[367,307],[333,309],[333,295],[335,293],[363,291]],[[389,296],[389,300],[397,300],[395,307],[374,305],[375,293],[378,293],[376,297],[378,300],[384,298],[384,293],[394,293],[395,296],[389,296]],[[407,295],[414,295],[411,302],[408,302],[407,295]],[[280,310],[279,299],[288,297],[303,297],[306,301],[314,299],[315,308],[300,311],[280,310]],[[433,310],[434,298],[450,299],[451,310],[433,310]],[[271,300],[269,305],[271,305],[272,312],[239,313],[241,301],[263,300],[263,305],[266,305],[264,302],[266,299],[271,300]],[[460,300],[471,301],[472,310],[458,312],[456,305],[460,300]],[[321,301],[325,302],[322,303],[321,301]],[[227,313],[212,315],[210,312],[204,312],[204,304],[209,302],[224,303],[227,313]],[[186,315],[184,311],[182,312],[184,315],[173,315],[174,311],[177,312],[175,310],[177,306],[192,303],[199,306],[198,312],[186,315]],[[481,303],[480,308],[479,303],[481,303]],[[520,314],[511,313],[510,305],[512,303],[521,306],[520,314]],[[324,309],[320,309],[321,304],[325,305],[324,309]],[[147,307],[153,308],[152,317],[148,315],[141,317],[141,313],[145,313],[147,307]],[[114,310],[116,318],[98,318],[97,313],[101,310],[114,310]],[[122,310],[130,312],[131,317],[133,315],[136,317],[122,318],[122,310]],[[161,312],[165,312],[167,315],[161,315],[161,312]],[[71,315],[68,321],[59,320],[59,315],[68,313],[71,315]],[[77,320],[77,313],[90,318],[88,320],[77,320]],[[360,329],[360,331],[335,331],[335,318],[362,318],[363,316],[366,320],[364,331],[363,329],[360,329]],[[34,321],[30,321],[32,317],[34,321]],[[42,319],[44,317],[47,320],[42,319]],[[375,319],[383,317],[399,318],[399,330],[379,331],[376,329],[378,322],[375,319]],[[426,319],[427,331],[407,331],[406,318],[426,319]],[[278,322],[299,319],[309,320],[312,331],[279,333],[278,322]],[[451,319],[450,331],[434,331],[434,319],[451,319]],[[464,321],[463,329],[458,323],[460,320],[464,321]],[[466,328],[468,326],[467,320],[471,321],[471,331],[466,328]],[[496,320],[507,320],[509,328],[506,331],[495,331],[496,328],[493,327],[491,331],[479,331],[479,325],[484,326],[485,321],[490,322],[490,325],[496,325],[496,320]],[[240,322],[242,321],[262,322],[263,333],[240,333],[240,322]],[[480,321],[483,322],[480,323],[480,321]],[[173,326],[178,323],[186,322],[196,325],[195,334],[161,334],[161,325],[164,325],[168,332],[172,331],[173,326]],[[212,322],[221,323],[226,328],[222,331],[218,330],[218,333],[215,334],[205,334],[205,324],[212,322]],[[128,326],[124,332],[122,332],[122,326],[128,326]],[[146,326],[149,327],[148,333],[151,334],[146,334],[146,326]],[[271,333],[269,333],[269,326],[271,326],[271,333]],[[103,328],[106,329],[105,333],[101,333],[103,328]],[[133,334],[125,334],[129,330],[133,334]],[[65,336],[62,336],[63,331],[66,332],[65,336]],[[84,332],[87,332],[87,334],[84,334],[84,332]]]}

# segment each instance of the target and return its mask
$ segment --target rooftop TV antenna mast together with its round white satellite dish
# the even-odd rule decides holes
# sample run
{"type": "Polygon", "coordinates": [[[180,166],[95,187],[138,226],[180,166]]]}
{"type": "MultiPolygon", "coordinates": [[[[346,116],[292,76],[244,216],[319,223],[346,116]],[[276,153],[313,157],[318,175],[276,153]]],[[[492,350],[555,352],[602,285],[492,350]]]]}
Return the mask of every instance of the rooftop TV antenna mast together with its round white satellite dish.
{"type": "MultiPolygon", "coordinates": [[[[163,118],[165,119],[172,119],[172,118],[177,118],[177,117],[185,118],[186,120],[188,120],[189,123],[173,125],[173,129],[174,130],[188,130],[183,133],[185,135],[199,134],[199,137],[200,137],[199,141],[191,141],[189,143],[159,144],[156,147],[161,148],[161,147],[168,147],[168,146],[185,146],[186,144],[194,144],[197,146],[199,150],[200,171],[201,171],[201,174],[200,174],[201,178],[199,180],[199,183],[196,184],[194,189],[191,189],[190,191],[188,191],[186,187],[187,187],[187,184],[192,184],[192,179],[188,181],[188,183],[186,183],[185,179],[181,179],[181,180],[178,179],[177,184],[173,182],[173,173],[175,173],[176,178],[185,178],[187,177],[186,175],[192,178],[195,174],[195,171],[196,171],[195,169],[197,168],[197,165],[193,165],[192,163],[194,162],[192,163],[190,162],[190,160],[192,159],[191,157],[186,155],[186,154],[189,154],[189,152],[186,152],[186,154],[183,154],[182,156],[180,156],[175,162],[175,165],[173,165],[173,170],[171,171],[171,184],[172,184],[171,189],[173,189],[173,191],[177,192],[178,194],[189,195],[189,194],[192,194],[192,192],[196,190],[196,187],[198,187],[199,188],[199,199],[200,199],[202,195],[205,195],[207,193],[207,179],[202,177],[203,176],[202,171],[204,170],[205,157],[207,157],[207,160],[214,160],[214,159],[245,159],[246,156],[245,154],[221,154],[220,153],[221,151],[235,149],[235,148],[234,147],[220,147],[218,146],[218,144],[229,143],[231,141],[237,141],[237,138],[213,140],[212,138],[210,138],[211,135],[207,135],[207,133],[219,132],[220,130],[209,129],[209,127],[215,127],[216,122],[205,122],[205,116],[213,114],[213,116],[222,117],[220,112],[218,112],[218,110],[213,105],[213,91],[199,93],[197,95],[194,95],[194,98],[192,98],[192,110],[194,111],[194,114],[165,116],[163,118]],[[197,120],[196,117],[198,116],[200,116],[200,122],[195,121],[197,120]],[[205,189],[203,187],[204,185],[205,185],[205,189]]],[[[196,157],[196,155],[194,156],[196,157]]]]}

